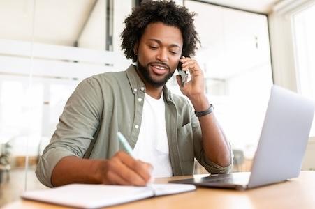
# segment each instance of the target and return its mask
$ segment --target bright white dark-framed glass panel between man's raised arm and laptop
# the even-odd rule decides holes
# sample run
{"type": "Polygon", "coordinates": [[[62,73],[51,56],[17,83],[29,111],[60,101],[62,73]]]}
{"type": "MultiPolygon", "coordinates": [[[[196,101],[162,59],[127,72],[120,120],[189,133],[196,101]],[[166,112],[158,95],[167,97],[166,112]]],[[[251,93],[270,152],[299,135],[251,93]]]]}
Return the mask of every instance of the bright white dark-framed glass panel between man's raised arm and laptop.
{"type": "Polygon", "coordinates": [[[252,157],[272,86],[267,17],[198,1],[184,5],[197,13],[196,59],[207,96],[233,148],[252,157]]]}

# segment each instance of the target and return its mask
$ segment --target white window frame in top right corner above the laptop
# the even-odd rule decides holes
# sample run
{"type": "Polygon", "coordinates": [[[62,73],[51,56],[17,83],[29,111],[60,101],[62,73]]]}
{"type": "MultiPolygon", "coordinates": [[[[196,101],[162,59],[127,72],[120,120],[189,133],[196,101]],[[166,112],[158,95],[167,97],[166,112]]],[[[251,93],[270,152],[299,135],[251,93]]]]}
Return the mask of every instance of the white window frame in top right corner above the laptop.
{"type": "MultiPolygon", "coordinates": [[[[297,93],[300,89],[293,15],[314,3],[315,0],[280,1],[268,15],[274,84],[297,93]]],[[[309,140],[314,143],[315,136],[309,140]]]]}

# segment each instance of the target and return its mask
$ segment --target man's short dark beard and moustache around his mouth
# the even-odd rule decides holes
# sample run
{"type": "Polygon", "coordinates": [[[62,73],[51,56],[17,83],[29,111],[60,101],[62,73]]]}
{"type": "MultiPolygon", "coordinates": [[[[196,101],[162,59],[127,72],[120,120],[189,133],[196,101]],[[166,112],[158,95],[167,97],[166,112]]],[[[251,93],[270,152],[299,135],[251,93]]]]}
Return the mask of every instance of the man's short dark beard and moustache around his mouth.
{"type": "MultiPolygon", "coordinates": [[[[150,74],[149,71],[149,65],[152,63],[147,64],[147,66],[143,66],[140,64],[139,60],[137,61],[137,69],[138,69],[138,73],[140,73],[140,75],[142,76],[142,79],[145,79],[145,82],[147,82],[148,84],[158,88],[161,86],[164,86],[166,84],[166,82],[168,82],[168,80],[170,79],[170,77],[173,76],[174,72],[170,72],[170,68],[167,66],[169,72],[167,75],[165,75],[163,78],[161,79],[154,79],[154,77],[152,77],[152,75],[150,74]]],[[[160,63],[163,64],[163,63],[160,63]]],[[[163,64],[165,65],[165,64],[163,64]]]]}

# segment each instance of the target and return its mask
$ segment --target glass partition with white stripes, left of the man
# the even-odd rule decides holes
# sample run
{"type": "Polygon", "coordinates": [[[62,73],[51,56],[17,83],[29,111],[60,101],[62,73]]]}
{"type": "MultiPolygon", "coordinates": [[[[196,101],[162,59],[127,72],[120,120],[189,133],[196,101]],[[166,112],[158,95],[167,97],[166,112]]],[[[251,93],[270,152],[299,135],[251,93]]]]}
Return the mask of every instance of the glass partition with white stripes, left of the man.
{"type": "Polygon", "coordinates": [[[119,34],[132,2],[0,1],[0,206],[45,188],[38,157],[78,83],[131,63],[119,34]]]}

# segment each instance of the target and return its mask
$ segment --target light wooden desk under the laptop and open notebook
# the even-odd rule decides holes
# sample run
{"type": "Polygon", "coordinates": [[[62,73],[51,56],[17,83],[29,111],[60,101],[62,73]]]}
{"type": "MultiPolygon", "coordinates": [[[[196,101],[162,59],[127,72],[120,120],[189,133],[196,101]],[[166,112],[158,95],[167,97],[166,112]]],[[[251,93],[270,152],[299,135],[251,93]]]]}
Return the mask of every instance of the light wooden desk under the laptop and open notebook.
{"type": "MultiPolygon", "coordinates": [[[[160,178],[156,183],[179,178],[184,177],[160,178]]],[[[4,208],[65,207],[21,200],[4,208]]],[[[110,208],[315,208],[315,171],[302,171],[299,178],[247,191],[199,187],[195,192],[159,196],[110,208]]]]}

